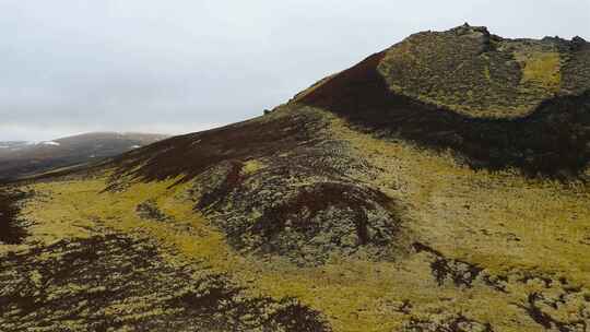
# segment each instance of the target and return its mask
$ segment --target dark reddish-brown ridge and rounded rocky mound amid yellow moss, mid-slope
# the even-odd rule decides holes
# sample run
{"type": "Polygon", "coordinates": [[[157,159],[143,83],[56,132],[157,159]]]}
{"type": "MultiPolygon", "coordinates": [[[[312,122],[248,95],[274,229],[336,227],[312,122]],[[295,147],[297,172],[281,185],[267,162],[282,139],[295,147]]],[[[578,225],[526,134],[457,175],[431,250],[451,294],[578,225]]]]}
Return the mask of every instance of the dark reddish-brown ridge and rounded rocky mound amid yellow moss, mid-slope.
{"type": "MultiPolygon", "coordinates": [[[[279,107],[260,119],[174,138],[115,161],[121,180],[194,181],[194,206],[239,251],[302,265],[332,254],[394,257],[400,206],[351,174],[366,167],[331,140],[311,108],[279,107]]],[[[138,213],[163,220],[144,203],[138,213]]]]}

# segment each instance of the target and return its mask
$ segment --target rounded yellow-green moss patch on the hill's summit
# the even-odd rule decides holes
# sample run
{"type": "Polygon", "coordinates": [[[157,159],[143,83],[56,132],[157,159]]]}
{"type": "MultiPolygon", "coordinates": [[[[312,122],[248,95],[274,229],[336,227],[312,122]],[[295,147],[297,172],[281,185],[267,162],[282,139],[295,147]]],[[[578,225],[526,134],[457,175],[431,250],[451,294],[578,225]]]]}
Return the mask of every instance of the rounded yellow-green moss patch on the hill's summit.
{"type": "Polygon", "coordinates": [[[389,48],[378,71],[394,93],[469,117],[517,118],[560,92],[557,48],[479,28],[424,32],[389,48]]]}

